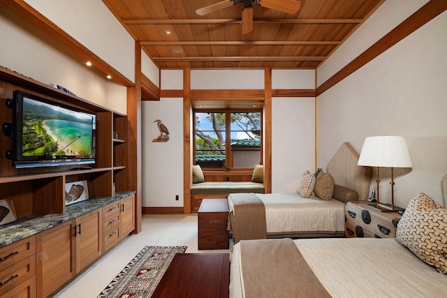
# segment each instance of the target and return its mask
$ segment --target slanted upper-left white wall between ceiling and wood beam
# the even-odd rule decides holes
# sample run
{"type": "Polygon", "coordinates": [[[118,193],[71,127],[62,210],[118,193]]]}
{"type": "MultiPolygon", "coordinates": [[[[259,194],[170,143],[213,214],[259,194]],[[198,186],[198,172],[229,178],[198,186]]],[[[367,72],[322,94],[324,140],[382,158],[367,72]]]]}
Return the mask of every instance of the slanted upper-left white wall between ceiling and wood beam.
{"type": "Polygon", "coordinates": [[[135,40],[103,1],[25,1],[119,73],[135,82],[135,40]]]}

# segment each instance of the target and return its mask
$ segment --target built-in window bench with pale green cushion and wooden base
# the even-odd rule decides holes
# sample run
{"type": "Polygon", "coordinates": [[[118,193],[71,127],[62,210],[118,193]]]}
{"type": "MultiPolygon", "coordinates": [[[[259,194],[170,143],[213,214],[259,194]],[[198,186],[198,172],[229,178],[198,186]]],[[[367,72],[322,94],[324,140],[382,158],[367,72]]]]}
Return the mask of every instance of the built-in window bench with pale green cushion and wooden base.
{"type": "Polygon", "coordinates": [[[209,181],[193,184],[191,211],[197,211],[204,198],[227,198],[230,193],[264,193],[264,185],[250,181],[209,181]]]}

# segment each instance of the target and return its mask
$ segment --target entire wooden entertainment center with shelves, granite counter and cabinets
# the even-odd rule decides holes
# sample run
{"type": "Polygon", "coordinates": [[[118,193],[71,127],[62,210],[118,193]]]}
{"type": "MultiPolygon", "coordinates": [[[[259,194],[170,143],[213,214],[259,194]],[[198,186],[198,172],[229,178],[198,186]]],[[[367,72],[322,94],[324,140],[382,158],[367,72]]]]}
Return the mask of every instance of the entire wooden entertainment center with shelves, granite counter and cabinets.
{"type": "Polygon", "coordinates": [[[16,168],[6,158],[10,136],[0,133],[0,199],[13,202],[18,218],[0,225],[0,296],[47,297],[135,230],[135,190],[129,189],[133,184],[129,184],[126,141],[129,123],[124,114],[0,68],[1,124],[13,122],[6,100],[17,89],[96,114],[91,169],[16,168]],[[65,184],[84,180],[90,199],[66,206],[65,184]]]}

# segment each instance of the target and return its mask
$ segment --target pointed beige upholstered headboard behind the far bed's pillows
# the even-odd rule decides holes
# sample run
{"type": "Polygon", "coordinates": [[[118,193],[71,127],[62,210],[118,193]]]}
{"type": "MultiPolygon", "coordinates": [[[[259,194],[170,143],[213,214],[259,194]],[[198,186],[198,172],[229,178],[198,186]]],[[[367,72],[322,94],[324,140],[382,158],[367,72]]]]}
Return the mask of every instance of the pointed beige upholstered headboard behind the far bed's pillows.
{"type": "Polygon", "coordinates": [[[357,165],[359,154],[349,142],[344,142],[328,163],[328,173],[335,184],[352,188],[359,200],[367,200],[371,184],[372,169],[357,165]]]}

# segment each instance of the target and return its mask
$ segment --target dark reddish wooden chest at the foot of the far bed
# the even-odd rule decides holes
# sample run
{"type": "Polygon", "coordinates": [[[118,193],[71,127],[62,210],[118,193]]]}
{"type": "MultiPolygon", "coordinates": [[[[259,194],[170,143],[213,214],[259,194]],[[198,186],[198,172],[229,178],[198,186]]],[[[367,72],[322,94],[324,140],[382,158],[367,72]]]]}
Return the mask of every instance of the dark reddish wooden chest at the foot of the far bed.
{"type": "Polygon", "coordinates": [[[198,249],[228,249],[228,201],[203,199],[198,209],[198,249]]]}

